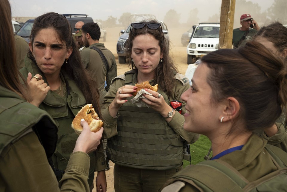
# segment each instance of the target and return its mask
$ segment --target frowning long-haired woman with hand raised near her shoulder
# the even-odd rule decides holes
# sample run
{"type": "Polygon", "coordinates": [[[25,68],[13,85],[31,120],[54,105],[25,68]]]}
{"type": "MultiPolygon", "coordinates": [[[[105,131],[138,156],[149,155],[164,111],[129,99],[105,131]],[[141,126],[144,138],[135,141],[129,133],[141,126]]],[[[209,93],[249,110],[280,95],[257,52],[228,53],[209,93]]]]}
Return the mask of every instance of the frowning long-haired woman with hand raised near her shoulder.
{"type": "MultiPolygon", "coordinates": [[[[30,35],[30,50],[25,67],[20,70],[31,88],[32,104],[47,111],[55,120],[59,132],[57,151],[52,156],[56,176],[61,177],[75,146],[78,135],[71,123],[81,107],[93,104],[100,114],[99,93],[96,82],[84,69],[80,53],[72,38],[68,20],[58,13],[46,13],[35,19],[30,35]],[[32,81],[32,75],[43,79],[32,81]]],[[[35,79],[33,78],[33,79],[35,79]]],[[[98,171],[96,184],[106,188],[105,158],[103,152],[91,152],[88,183],[92,190],[94,171],[98,171]]]]}

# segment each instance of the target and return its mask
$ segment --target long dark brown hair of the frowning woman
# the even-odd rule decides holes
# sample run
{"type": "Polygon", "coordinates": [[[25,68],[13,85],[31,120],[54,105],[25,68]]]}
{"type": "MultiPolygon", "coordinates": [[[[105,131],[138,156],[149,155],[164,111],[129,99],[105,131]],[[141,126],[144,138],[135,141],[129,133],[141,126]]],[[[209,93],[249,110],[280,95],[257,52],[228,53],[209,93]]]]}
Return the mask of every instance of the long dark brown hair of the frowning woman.
{"type": "MultiPolygon", "coordinates": [[[[80,52],[72,37],[72,28],[68,20],[65,16],[58,13],[46,13],[37,17],[30,35],[32,45],[38,32],[47,28],[54,29],[59,35],[60,40],[66,43],[67,48],[72,47],[73,51],[68,59],[68,63],[66,64],[66,62],[64,62],[62,69],[75,81],[79,89],[83,92],[86,102],[91,103],[97,114],[100,115],[100,95],[97,89],[97,83],[91,78],[82,64],[80,52]]],[[[28,54],[30,58],[33,58],[31,51],[29,51],[28,54]]],[[[34,58],[33,61],[36,64],[34,58]]]]}

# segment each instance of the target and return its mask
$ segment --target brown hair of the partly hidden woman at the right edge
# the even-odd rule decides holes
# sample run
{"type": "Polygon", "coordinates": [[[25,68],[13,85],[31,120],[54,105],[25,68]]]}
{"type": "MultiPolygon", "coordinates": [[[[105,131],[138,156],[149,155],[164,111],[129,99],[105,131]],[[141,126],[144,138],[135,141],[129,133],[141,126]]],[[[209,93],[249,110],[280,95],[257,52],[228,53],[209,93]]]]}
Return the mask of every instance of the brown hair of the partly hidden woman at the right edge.
{"type": "MultiPolygon", "coordinates": [[[[263,37],[271,41],[279,52],[287,49],[287,28],[278,21],[261,27],[254,35],[253,40],[256,40],[257,37],[263,37]]],[[[287,62],[287,57],[284,60],[287,62]]]]}

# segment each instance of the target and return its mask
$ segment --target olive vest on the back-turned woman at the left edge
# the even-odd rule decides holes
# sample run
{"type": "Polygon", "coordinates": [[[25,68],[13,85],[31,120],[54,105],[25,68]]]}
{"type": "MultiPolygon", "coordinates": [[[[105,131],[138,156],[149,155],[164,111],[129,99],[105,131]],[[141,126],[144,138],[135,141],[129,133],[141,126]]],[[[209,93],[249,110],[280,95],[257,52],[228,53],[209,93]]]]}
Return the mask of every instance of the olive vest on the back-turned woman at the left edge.
{"type": "Polygon", "coordinates": [[[32,131],[38,136],[47,157],[51,157],[56,148],[58,131],[51,117],[25,100],[0,97],[0,154],[10,143],[17,142],[32,131]]]}

